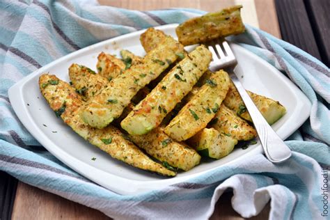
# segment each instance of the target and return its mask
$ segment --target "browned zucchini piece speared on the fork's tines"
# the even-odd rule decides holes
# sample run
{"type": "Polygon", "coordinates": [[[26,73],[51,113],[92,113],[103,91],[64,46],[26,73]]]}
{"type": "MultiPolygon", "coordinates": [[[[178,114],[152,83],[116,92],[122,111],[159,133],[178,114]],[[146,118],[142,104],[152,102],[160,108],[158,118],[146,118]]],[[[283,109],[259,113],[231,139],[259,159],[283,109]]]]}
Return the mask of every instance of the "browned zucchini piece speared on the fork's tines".
{"type": "Polygon", "coordinates": [[[242,6],[233,6],[215,13],[188,19],[176,29],[182,45],[194,45],[209,40],[243,33],[245,28],[240,15],[242,6]]]}

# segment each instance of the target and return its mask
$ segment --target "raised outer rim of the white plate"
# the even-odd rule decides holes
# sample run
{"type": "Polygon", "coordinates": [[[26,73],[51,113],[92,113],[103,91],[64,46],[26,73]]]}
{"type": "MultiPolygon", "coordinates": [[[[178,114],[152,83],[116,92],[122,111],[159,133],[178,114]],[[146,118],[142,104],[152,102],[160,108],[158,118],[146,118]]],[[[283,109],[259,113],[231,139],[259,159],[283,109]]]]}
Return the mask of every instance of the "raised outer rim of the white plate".
{"type": "MultiPolygon", "coordinates": [[[[165,29],[175,29],[175,27],[178,26],[178,24],[166,24],[163,26],[155,26],[155,29],[165,30],[165,29]]],[[[23,88],[24,85],[33,79],[34,77],[38,76],[38,74],[41,74],[48,68],[52,67],[53,65],[57,65],[58,63],[61,63],[62,61],[68,60],[76,55],[83,54],[84,52],[88,52],[89,49],[92,49],[93,47],[102,47],[102,45],[108,45],[109,43],[116,41],[120,38],[120,40],[123,40],[125,38],[130,38],[131,36],[136,36],[146,31],[146,29],[140,30],[140,31],[134,31],[132,33],[127,33],[123,36],[118,36],[116,38],[111,38],[108,40],[104,40],[102,42],[97,42],[94,45],[90,45],[88,47],[84,47],[82,49],[79,49],[75,52],[72,52],[70,54],[67,54],[65,56],[62,56],[61,58],[56,59],[55,61],[52,61],[51,63],[48,63],[47,65],[43,66],[42,68],[39,68],[38,70],[35,70],[31,72],[31,74],[27,75],[23,79],[20,79],[15,83],[13,86],[11,86],[8,90],[8,97],[10,100],[10,103],[12,104],[13,110],[15,111],[17,118],[21,121],[21,123],[26,127],[26,129],[30,132],[30,134],[39,141],[42,146],[44,146],[49,152],[52,153],[56,158],[60,159],[61,162],[63,162],[65,165],[72,168],[74,171],[79,173],[79,175],[83,175],[85,178],[88,178],[89,180],[92,180],[93,182],[96,182],[97,184],[100,184],[102,187],[105,187],[107,189],[110,189],[111,191],[114,191],[118,194],[123,195],[132,195],[137,194],[141,192],[151,191],[152,189],[162,189],[163,187],[169,186],[171,184],[183,182],[185,180],[189,180],[191,178],[195,178],[196,176],[203,175],[204,173],[213,171],[216,168],[219,168],[221,166],[227,166],[229,164],[233,164],[234,162],[239,161],[240,159],[244,159],[248,157],[249,155],[256,155],[260,152],[262,152],[262,147],[258,146],[257,148],[246,152],[244,155],[241,155],[235,159],[233,159],[230,162],[227,162],[226,164],[221,164],[217,167],[210,168],[206,171],[201,171],[199,173],[193,173],[191,175],[183,176],[183,177],[176,177],[176,178],[169,178],[166,180],[148,180],[148,181],[140,181],[140,180],[129,180],[122,178],[118,175],[114,175],[112,173],[107,173],[106,171],[102,171],[99,168],[96,168],[95,166],[91,166],[90,164],[87,164],[86,162],[83,162],[77,158],[75,158],[73,155],[69,155],[68,152],[65,152],[61,148],[58,148],[56,144],[52,143],[52,141],[49,141],[47,138],[47,135],[45,135],[35,124],[34,120],[31,118],[30,114],[27,111],[26,103],[24,102],[24,96],[23,96],[23,88]],[[68,159],[62,159],[62,157],[67,157],[68,159]],[[81,171],[84,170],[84,171],[81,171]],[[89,174],[93,173],[93,174],[89,174]],[[102,182],[97,176],[104,176],[107,175],[107,177],[112,178],[111,180],[114,180],[113,182],[118,182],[116,184],[119,184],[121,187],[114,187],[112,184],[107,184],[105,181],[102,182]],[[161,181],[161,183],[159,182],[161,181]],[[127,184],[127,182],[129,182],[127,184]],[[134,185],[134,187],[132,187],[134,185]],[[126,190],[123,190],[122,188],[125,187],[126,190]]],[[[237,47],[241,47],[237,44],[235,44],[237,47]]],[[[246,50],[244,47],[242,49],[246,50]]],[[[246,50],[246,52],[249,52],[246,50]]],[[[251,52],[249,52],[251,53],[251,52]]],[[[251,56],[254,56],[254,58],[260,59],[263,64],[268,65],[269,68],[274,68],[274,66],[270,65],[266,61],[262,60],[262,58],[256,56],[256,54],[251,53],[251,56]]],[[[277,70],[276,68],[274,68],[277,70]]],[[[278,70],[277,70],[278,71],[278,70]]],[[[285,81],[290,81],[288,78],[286,78],[283,74],[278,74],[278,77],[283,78],[285,81]]],[[[299,95],[302,100],[304,100],[305,110],[309,109],[308,114],[305,111],[304,120],[301,120],[301,123],[299,123],[299,127],[308,119],[309,112],[311,110],[311,102],[308,100],[306,95],[300,91],[300,89],[295,86],[292,81],[290,81],[292,85],[294,86],[295,90],[294,92],[296,95],[299,95]],[[297,94],[300,93],[300,94],[297,94]],[[308,102],[306,102],[308,101],[308,102]]],[[[289,136],[290,134],[288,134],[289,136]]],[[[286,137],[288,137],[286,136],[286,137]]],[[[285,137],[285,138],[286,138],[285,137]]],[[[112,181],[111,181],[112,182],[112,181]]]]}

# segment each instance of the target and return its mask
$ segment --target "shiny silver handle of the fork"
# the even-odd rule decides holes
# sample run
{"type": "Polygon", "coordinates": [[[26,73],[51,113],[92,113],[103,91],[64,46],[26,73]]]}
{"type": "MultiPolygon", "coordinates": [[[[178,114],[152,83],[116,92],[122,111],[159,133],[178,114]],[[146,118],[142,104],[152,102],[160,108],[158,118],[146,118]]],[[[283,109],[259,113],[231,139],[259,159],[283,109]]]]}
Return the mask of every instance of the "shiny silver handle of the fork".
{"type": "Polygon", "coordinates": [[[233,72],[229,73],[230,78],[233,80],[239,95],[242,97],[246,109],[249,111],[254,127],[256,127],[260,143],[265,151],[266,157],[273,163],[285,161],[291,157],[291,150],[288,148],[288,146],[285,145],[285,143],[276,134],[276,132],[274,132],[274,129],[272,129],[272,127],[270,127],[270,125],[267,123],[256,105],[251,100],[251,97],[248,95],[248,93],[246,93],[244,87],[234,72],[235,69],[233,72]]]}

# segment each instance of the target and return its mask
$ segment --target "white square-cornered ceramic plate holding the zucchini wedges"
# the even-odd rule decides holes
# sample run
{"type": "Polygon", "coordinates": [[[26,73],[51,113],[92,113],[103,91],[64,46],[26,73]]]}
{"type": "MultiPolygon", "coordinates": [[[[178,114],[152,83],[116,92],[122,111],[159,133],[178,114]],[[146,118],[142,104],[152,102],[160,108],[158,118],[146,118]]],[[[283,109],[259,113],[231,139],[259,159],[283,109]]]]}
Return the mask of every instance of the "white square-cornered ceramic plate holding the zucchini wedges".
{"type": "MultiPolygon", "coordinates": [[[[177,24],[170,24],[159,26],[157,29],[176,38],[176,26],[177,24]]],[[[38,86],[40,74],[50,72],[65,81],[69,81],[68,68],[72,63],[79,63],[95,69],[97,55],[102,51],[119,56],[120,49],[129,49],[134,54],[143,56],[145,52],[139,42],[141,33],[143,31],[105,40],[63,56],[29,74],[9,89],[10,102],[19,120],[42,146],[45,146],[49,152],[52,152],[55,157],[74,171],[118,194],[136,194],[151,189],[160,189],[170,184],[186,181],[224,164],[235,162],[237,159],[262,152],[259,143],[249,146],[246,150],[237,148],[223,159],[204,161],[191,171],[178,173],[175,178],[164,178],[112,159],[107,153],[102,152],[75,134],[61,119],[56,118],[40,94],[38,86]],[[53,133],[53,131],[57,133],[53,133]],[[95,157],[96,160],[93,161],[92,157],[95,157]]],[[[288,110],[285,116],[272,126],[282,139],[287,138],[308,118],[311,103],[297,86],[272,65],[243,47],[235,44],[231,46],[239,65],[244,70],[242,83],[245,88],[278,100],[288,110]]]]}

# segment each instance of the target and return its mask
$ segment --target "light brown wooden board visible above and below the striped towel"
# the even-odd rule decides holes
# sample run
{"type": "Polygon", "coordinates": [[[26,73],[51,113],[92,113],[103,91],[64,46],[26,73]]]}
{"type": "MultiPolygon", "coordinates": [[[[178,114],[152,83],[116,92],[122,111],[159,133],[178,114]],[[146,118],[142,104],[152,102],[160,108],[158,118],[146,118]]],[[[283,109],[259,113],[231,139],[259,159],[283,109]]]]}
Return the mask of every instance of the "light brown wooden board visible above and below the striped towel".
{"type": "MultiPolygon", "coordinates": [[[[235,4],[242,4],[245,23],[281,38],[274,0],[100,0],[108,6],[134,10],[161,8],[196,8],[214,11],[235,4]]],[[[219,198],[211,219],[242,219],[231,207],[231,196],[226,193],[219,198]]],[[[268,219],[269,204],[252,219],[268,219]]],[[[110,219],[102,212],[79,203],[19,182],[13,207],[13,219],[110,219]]]]}

